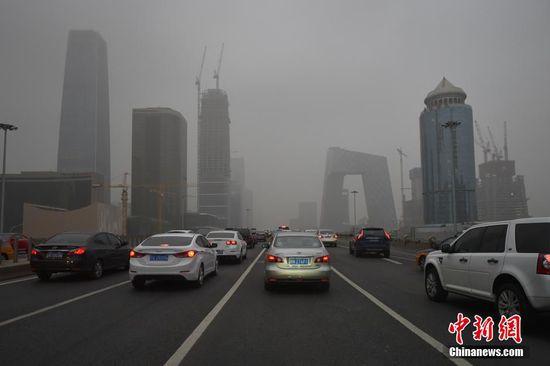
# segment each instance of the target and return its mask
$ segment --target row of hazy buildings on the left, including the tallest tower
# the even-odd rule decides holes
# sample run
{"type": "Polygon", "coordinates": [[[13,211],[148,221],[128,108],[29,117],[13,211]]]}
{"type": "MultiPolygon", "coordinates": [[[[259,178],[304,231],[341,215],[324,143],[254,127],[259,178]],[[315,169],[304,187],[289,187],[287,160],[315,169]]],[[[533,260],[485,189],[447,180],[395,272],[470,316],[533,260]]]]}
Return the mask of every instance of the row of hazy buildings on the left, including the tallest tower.
{"type": "Polygon", "coordinates": [[[57,171],[7,175],[4,227],[43,237],[60,228],[147,235],[252,225],[244,159],[230,158],[226,92],[199,90],[196,183],[187,179],[182,114],[165,107],[133,109],[130,183],[126,175],[111,178],[108,80],[105,40],[95,31],[70,31],[57,171]],[[120,205],[111,205],[111,189],[122,193],[120,205]],[[195,189],[198,209],[190,212],[189,192],[195,189]]]}

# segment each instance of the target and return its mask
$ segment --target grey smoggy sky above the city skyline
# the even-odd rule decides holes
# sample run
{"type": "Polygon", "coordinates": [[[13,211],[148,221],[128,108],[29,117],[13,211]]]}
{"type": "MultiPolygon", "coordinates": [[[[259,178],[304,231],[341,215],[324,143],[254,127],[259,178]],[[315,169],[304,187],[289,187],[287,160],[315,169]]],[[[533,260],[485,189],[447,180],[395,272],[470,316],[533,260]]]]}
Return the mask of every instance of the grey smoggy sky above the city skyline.
{"type": "Polygon", "coordinates": [[[214,85],[225,42],[231,150],[257,226],[288,222],[299,201],[320,208],[329,146],[387,156],[400,211],[395,149],[407,170],[420,164],[418,117],[443,76],[499,144],[509,121],[530,213],[550,216],[548,19],[550,1],[0,0],[0,121],[20,127],[8,171],[56,169],[67,33],[94,29],[108,47],[113,181],[130,171],[131,109],[150,106],[186,117],[196,180],[194,77],[207,45],[214,85]]]}

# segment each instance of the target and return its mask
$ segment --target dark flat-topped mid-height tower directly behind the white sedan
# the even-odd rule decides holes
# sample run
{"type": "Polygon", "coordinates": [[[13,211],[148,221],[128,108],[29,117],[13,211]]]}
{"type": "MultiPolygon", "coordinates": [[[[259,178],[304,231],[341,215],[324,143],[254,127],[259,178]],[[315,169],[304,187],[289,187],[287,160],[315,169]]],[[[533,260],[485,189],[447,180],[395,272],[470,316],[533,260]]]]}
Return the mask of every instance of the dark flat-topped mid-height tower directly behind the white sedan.
{"type": "Polygon", "coordinates": [[[187,195],[187,122],[170,108],[132,113],[133,234],[182,228],[187,195]]]}

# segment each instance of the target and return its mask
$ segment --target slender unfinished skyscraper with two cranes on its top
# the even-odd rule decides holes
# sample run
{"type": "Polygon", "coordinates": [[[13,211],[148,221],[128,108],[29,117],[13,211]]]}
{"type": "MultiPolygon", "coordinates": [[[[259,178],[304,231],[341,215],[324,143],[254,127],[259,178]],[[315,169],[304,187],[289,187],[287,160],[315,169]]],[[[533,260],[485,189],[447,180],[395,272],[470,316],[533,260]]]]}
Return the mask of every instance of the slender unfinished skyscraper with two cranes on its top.
{"type": "Polygon", "coordinates": [[[229,101],[221,89],[202,94],[199,116],[198,210],[229,220],[229,101]]]}

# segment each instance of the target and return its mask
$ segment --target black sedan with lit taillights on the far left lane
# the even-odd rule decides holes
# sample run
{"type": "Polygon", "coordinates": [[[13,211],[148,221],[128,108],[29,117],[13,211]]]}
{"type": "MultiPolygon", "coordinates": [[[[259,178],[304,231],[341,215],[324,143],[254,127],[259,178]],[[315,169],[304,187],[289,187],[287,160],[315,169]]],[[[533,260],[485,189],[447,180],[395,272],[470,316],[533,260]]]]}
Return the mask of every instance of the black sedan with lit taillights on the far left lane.
{"type": "Polygon", "coordinates": [[[97,279],[103,270],[128,268],[130,247],[111,233],[57,234],[31,251],[31,269],[41,280],[56,272],[79,272],[97,279]]]}

